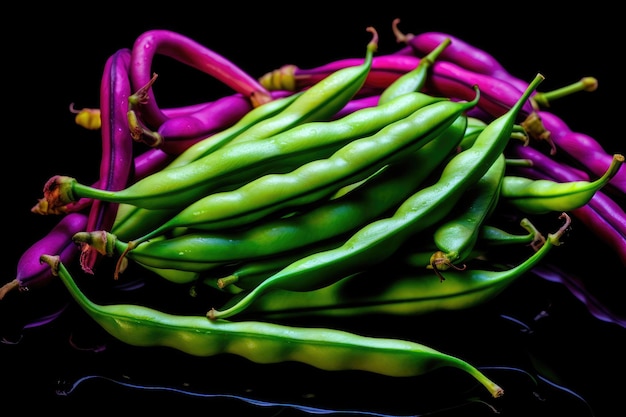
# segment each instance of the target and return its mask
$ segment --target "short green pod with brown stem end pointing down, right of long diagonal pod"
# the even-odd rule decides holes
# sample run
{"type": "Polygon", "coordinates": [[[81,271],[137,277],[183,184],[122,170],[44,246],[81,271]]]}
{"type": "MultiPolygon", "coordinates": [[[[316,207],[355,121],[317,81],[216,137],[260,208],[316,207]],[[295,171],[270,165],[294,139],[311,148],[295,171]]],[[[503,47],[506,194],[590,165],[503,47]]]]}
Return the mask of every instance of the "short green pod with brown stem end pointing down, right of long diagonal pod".
{"type": "Polygon", "coordinates": [[[435,229],[433,240],[438,250],[431,256],[429,268],[440,279],[445,278],[439,271],[458,268],[454,264],[463,262],[474,249],[482,224],[498,203],[505,162],[504,154],[501,154],[482,178],[466,191],[450,218],[435,229]]]}

